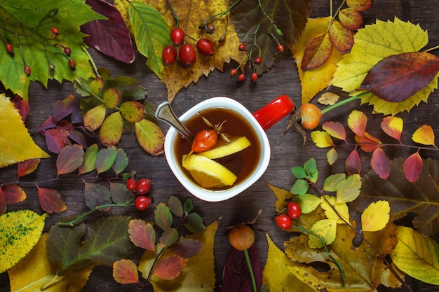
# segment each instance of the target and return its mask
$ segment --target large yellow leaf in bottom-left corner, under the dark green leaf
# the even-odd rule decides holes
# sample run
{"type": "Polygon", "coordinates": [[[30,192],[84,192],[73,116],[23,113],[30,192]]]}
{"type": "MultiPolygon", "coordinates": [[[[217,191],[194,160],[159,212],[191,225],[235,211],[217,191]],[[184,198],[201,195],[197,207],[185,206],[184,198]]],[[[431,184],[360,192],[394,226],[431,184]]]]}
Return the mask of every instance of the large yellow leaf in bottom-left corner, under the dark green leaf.
{"type": "Polygon", "coordinates": [[[86,286],[93,266],[88,266],[77,272],[67,270],[65,274],[58,275],[59,266],[50,263],[46,248],[47,233],[43,233],[39,242],[25,258],[8,270],[11,291],[32,292],[44,288],[48,292],[79,292],[86,286]],[[52,281],[53,280],[53,281],[52,281]]]}

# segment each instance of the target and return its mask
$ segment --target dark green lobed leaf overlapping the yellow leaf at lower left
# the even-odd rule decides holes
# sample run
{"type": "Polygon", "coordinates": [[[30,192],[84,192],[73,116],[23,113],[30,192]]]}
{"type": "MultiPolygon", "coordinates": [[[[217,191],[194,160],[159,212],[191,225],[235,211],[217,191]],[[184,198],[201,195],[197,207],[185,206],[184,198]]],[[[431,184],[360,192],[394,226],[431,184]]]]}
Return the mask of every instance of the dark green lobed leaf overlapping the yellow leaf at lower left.
{"type": "Polygon", "coordinates": [[[112,265],[116,260],[127,258],[135,251],[128,237],[129,222],[127,216],[98,218],[88,225],[85,242],[84,223],[72,228],[53,225],[47,239],[49,260],[64,269],[81,270],[90,265],[112,265]]]}

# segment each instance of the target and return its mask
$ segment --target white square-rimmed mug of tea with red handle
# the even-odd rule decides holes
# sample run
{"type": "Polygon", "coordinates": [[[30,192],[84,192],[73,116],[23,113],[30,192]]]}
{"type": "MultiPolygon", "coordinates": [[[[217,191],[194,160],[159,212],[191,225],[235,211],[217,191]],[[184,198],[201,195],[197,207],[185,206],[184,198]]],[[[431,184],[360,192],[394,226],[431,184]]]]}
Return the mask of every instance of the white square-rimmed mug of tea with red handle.
{"type": "Polygon", "coordinates": [[[252,186],[264,174],[269,166],[271,156],[270,143],[265,131],[294,109],[294,103],[286,95],[273,99],[272,102],[255,113],[250,113],[243,104],[229,97],[205,99],[180,116],[182,127],[186,128],[189,134],[195,135],[210,128],[209,125],[215,125],[215,130],[220,127],[217,132],[218,144],[222,143],[229,145],[228,148],[233,148],[230,145],[234,141],[245,137],[245,140],[248,140],[247,146],[241,151],[224,157],[204,158],[204,156],[201,157],[203,153],[198,155],[198,153],[191,152],[192,142],[189,141],[186,134],[182,135],[180,134],[182,131],[170,127],[164,145],[168,165],[182,186],[201,200],[219,202],[234,197],[252,186]],[[227,141],[222,141],[223,139],[227,141]],[[194,163],[198,163],[195,158],[201,159],[200,165],[194,165],[194,163]],[[189,160],[191,165],[195,166],[195,170],[187,167],[189,160]],[[216,171],[216,167],[219,167],[220,175],[223,175],[222,167],[224,167],[226,169],[224,172],[228,171],[227,174],[230,174],[227,177],[236,177],[234,177],[233,183],[213,188],[203,187],[195,177],[200,174],[197,166],[204,167],[203,172],[216,171]]]}

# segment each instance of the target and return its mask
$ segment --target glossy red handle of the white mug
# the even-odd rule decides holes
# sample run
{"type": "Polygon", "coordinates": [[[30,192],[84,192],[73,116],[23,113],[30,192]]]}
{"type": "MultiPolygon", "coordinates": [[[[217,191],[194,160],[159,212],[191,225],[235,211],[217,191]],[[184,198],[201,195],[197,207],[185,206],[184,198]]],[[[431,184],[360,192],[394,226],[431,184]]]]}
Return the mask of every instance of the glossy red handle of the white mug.
{"type": "Polygon", "coordinates": [[[278,123],[279,120],[285,118],[288,113],[291,113],[296,108],[294,102],[287,95],[276,97],[269,104],[258,109],[253,116],[262,126],[264,131],[278,123]]]}

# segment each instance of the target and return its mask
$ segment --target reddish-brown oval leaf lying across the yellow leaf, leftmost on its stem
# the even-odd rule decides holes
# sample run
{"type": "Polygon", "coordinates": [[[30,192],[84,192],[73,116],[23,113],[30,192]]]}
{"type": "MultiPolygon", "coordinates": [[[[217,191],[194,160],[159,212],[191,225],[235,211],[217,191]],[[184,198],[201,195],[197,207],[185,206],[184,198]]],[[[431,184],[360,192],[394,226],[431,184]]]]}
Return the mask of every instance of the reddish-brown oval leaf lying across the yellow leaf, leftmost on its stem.
{"type": "Polygon", "coordinates": [[[329,34],[314,36],[306,45],[301,69],[308,71],[322,66],[330,58],[331,53],[332,43],[329,34]]]}

